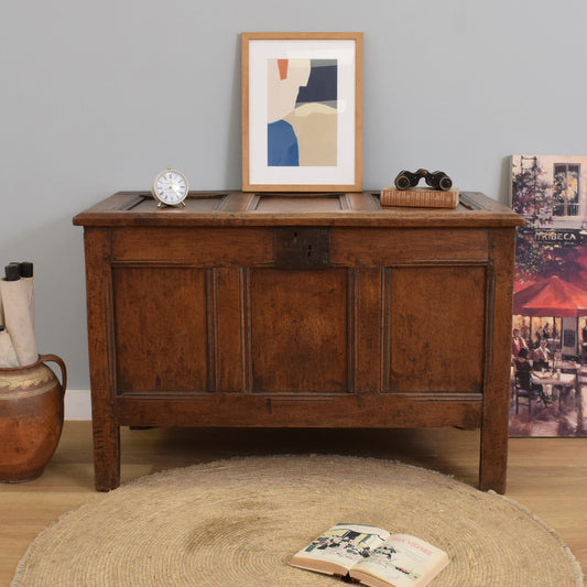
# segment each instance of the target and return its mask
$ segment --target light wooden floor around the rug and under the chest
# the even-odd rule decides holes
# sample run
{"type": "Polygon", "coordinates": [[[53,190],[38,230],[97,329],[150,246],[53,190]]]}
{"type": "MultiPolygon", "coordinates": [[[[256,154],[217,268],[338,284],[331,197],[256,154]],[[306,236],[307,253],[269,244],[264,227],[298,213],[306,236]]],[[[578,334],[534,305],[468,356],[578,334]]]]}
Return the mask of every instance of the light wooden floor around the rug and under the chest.
{"type": "MultiPolygon", "coordinates": [[[[123,482],[155,470],[232,456],[325,453],[398,459],[477,483],[478,432],[453,428],[123,428],[121,437],[123,482]]],[[[510,439],[506,494],[553,528],[587,570],[587,438],[510,439]]],[[[66,422],[57,452],[40,479],[0,483],[0,586],[10,585],[15,565],[43,529],[93,496],[97,493],[91,424],[66,422]]]]}

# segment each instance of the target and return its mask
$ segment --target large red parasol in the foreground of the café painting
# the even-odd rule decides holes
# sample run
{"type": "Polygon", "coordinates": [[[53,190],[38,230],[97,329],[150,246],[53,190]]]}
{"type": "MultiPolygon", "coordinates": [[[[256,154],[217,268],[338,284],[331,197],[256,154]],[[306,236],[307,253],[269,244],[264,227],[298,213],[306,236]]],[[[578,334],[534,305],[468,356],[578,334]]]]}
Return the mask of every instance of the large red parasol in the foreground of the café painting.
{"type": "Polygon", "coordinates": [[[513,314],[578,318],[587,316],[587,291],[554,276],[513,294],[513,314]]]}

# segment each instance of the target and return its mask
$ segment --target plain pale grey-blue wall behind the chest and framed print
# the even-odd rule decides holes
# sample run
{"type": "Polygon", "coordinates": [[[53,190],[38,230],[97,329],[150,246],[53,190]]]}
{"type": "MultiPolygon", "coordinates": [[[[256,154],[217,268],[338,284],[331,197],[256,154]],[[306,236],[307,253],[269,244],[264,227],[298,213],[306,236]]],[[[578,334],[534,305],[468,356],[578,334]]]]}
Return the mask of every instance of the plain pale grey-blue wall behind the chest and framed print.
{"type": "Polygon", "coordinates": [[[363,184],[446,171],[507,202],[511,153],[587,154],[585,0],[3,2],[0,265],[35,263],[42,352],[88,389],[75,214],[161,169],[240,187],[241,31],[365,33],[363,184]]]}

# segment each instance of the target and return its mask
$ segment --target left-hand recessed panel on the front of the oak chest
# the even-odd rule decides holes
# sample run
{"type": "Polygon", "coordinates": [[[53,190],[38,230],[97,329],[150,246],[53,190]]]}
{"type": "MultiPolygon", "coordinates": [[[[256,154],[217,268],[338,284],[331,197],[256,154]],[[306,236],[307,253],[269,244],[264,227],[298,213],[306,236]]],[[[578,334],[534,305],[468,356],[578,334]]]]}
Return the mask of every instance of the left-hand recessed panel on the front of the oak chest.
{"type": "Polygon", "coordinates": [[[112,269],[119,393],[209,389],[206,273],[112,269]]]}

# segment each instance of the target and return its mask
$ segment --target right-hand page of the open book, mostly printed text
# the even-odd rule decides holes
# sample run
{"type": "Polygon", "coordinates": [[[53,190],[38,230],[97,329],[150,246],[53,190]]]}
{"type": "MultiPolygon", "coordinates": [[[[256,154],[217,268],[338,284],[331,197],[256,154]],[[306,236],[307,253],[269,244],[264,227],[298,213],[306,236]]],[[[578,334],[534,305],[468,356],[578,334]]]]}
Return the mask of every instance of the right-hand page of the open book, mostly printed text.
{"type": "Polygon", "coordinates": [[[350,572],[366,585],[393,587],[426,585],[448,564],[445,552],[409,534],[394,534],[350,572]],[[382,581],[369,581],[369,576],[382,581]]]}

